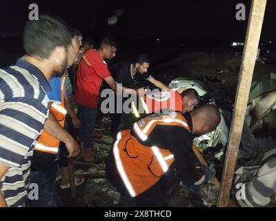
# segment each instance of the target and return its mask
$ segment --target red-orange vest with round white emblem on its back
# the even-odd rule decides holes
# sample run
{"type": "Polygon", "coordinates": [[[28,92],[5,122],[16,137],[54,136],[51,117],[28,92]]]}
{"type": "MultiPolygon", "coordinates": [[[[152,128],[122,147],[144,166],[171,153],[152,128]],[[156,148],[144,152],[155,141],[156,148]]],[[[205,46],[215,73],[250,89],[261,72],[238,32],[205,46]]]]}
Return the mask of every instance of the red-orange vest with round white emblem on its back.
{"type": "Polygon", "coordinates": [[[182,112],[182,97],[174,90],[161,90],[144,96],[149,113],[160,113],[161,110],[182,112]]]}

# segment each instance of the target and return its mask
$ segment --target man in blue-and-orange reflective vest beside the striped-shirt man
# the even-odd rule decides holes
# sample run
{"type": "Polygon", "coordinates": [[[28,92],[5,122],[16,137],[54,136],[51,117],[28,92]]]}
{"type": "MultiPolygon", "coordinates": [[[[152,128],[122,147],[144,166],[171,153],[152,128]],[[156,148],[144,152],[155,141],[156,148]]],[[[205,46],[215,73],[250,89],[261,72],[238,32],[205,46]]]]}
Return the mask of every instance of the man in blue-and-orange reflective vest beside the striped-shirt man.
{"type": "MultiPolygon", "coordinates": [[[[68,46],[68,67],[77,59],[79,50],[79,41],[75,35],[72,35],[72,44],[68,46]]],[[[34,148],[32,158],[32,173],[30,180],[39,186],[39,199],[30,200],[30,206],[61,206],[61,200],[55,191],[55,180],[57,176],[58,165],[63,160],[62,171],[66,176],[67,165],[64,165],[65,157],[76,157],[80,148],[77,141],[68,133],[65,128],[65,119],[68,114],[75,126],[80,126],[79,119],[72,109],[70,99],[66,95],[64,86],[65,74],[57,74],[50,80],[52,91],[48,93],[50,99],[50,115],[52,119],[47,121],[51,134],[43,131],[39,137],[38,143],[34,148]],[[72,140],[74,146],[68,146],[68,141],[72,140]],[[63,144],[63,145],[61,145],[63,144]],[[66,154],[66,152],[68,154],[66,154]]]]}

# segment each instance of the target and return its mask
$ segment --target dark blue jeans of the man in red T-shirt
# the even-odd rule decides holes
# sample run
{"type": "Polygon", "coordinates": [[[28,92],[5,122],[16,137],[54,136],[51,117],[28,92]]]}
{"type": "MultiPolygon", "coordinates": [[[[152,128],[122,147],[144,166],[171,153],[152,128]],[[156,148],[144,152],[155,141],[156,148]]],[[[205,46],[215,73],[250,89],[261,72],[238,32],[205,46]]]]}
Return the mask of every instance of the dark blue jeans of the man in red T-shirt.
{"type": "Polygon", "coordinates": [[[84,148],[92,147],[94,126],[97,118],[97,108],[89,108],[87,106],[78,105],[79,120],[81,128],[79,128],[79,140],[83,142],[84,148]]]}

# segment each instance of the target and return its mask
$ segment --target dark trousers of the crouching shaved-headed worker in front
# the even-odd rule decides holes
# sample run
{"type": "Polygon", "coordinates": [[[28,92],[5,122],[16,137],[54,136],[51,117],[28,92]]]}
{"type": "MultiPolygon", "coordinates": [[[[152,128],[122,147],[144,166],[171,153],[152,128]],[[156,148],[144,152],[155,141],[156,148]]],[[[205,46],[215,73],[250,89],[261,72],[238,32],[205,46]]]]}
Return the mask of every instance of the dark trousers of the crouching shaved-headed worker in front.
{"type": "MultiPolygon", "coordinates": [[[[135,206],[166,206],[170,198],[172,186],[178,183],[177,177],[172,171],[173,169],[171,168],[150,189],[132,198],[135,206]]],[[[106,160],[106,177],[124,197],[131,198],[117,171],[112,153],[108,155],[108,159],[106,160]]]]}

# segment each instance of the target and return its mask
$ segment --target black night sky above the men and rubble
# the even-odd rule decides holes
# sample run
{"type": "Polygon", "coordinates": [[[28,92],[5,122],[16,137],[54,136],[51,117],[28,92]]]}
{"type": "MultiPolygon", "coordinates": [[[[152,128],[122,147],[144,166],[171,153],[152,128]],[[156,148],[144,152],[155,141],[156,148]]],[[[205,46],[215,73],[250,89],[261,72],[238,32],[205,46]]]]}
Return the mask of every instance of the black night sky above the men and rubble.
{"type": "MultiPolygon", "coordinates": [[[[21,37],[28,19],[30,3],[37,3],[39,15],[59,16],[70,26],[90,35],[99,43],[110,35],[125,48],[159,43],[208,46],[244,41],[250,12],[250,0],[205,1],[26,1],[1,0],[0,32],[2,36],[21,37]],[[246,5],[246,21],[237,21],[235,6],[246,5]],[[108,17],[119,8],[124,10],[115,25],[108,25],[108,17]]],[[[276,41],[276,1],[268,0],[261,41],[276,41]]]]}

